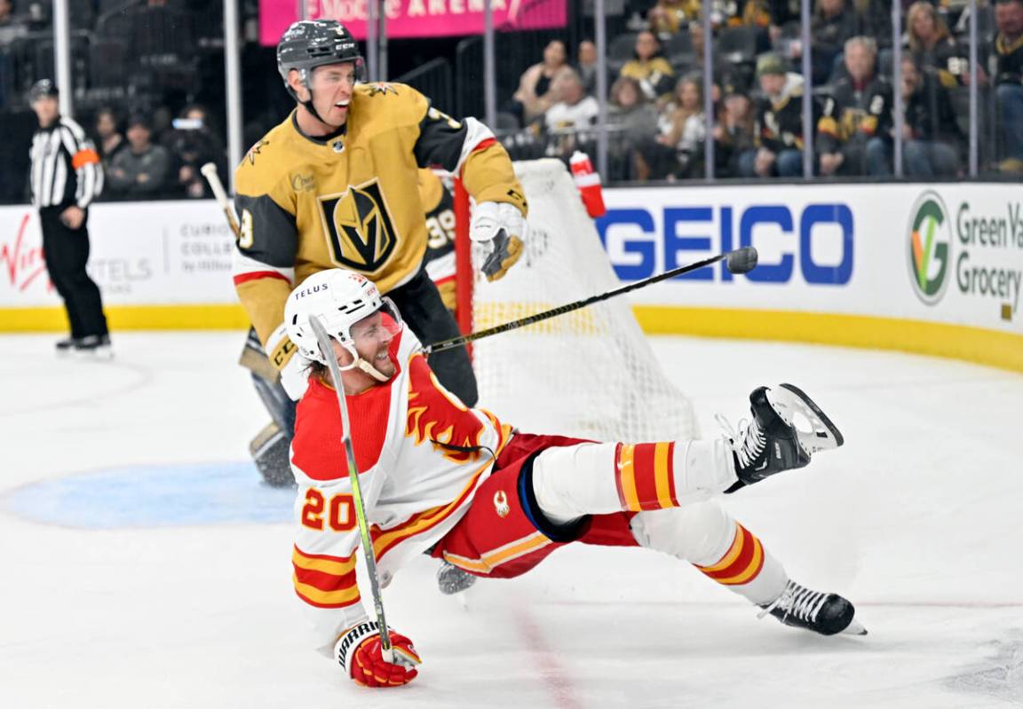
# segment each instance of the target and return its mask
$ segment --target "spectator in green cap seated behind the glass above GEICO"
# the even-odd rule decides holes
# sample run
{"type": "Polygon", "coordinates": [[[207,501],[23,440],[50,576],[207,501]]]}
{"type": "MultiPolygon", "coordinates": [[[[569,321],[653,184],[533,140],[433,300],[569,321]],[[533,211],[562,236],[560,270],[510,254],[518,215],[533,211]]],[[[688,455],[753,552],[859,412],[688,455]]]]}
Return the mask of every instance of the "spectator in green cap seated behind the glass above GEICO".
{"type": "Polygon", "coordinates": [[[757,105],[755,150],[739,158],[745,178],[784,177],[803,174],[803,78],[789,72],[776,54],[757,61],[757,80],[763,97],[757,105]]]}

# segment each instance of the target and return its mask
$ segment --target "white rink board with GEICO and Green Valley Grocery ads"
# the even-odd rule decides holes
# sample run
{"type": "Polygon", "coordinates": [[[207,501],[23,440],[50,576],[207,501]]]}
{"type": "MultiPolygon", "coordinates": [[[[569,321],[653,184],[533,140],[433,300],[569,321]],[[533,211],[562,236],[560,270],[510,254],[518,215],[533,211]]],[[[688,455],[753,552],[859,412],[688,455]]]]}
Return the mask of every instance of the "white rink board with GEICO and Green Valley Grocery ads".
{"type": "Polygon", "coordinates": [[[1023,197],[1002,184],[605,190],[597,232],[636,281],[741,246],[724,263],[633,291],[651,304],[835,312],[1021,329],[1023,197]]]}

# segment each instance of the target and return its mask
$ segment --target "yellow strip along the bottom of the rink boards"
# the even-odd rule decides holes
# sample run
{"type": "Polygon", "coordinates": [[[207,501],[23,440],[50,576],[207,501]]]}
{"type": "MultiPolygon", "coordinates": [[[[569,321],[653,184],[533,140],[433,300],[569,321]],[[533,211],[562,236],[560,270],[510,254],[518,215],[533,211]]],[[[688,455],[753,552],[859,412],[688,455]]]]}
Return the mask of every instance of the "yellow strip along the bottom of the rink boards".
{"type": "MultiPolygon", "coordinates": [[[[246,330],[239,304],[107,305],[110,330],[246,330]]],[[[635,305],[657,335],[697,335],[897,349],[1023,372],[1023,334],[918,320],[790,311],[635,305]]],[[[0,332],[62,332],[62,308],[0,309],[0,332]]]]}

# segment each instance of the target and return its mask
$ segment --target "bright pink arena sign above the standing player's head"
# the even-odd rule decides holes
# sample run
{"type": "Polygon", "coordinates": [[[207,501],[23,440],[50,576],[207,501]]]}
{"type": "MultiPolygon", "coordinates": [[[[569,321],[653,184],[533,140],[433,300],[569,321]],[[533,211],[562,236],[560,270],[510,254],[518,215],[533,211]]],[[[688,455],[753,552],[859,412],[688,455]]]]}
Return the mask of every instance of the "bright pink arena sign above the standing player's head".
{"type": "MultiPolygon", "coordinates": [[[[337,19],[356,39],[366,37],[367,0],[260,0],[260,42],[274,46],[299,18],[300,2],[309,19],[337,19]]],[[[394,38],[483,34],[483,0],[385,0],[387,33],[394,38]]],[[[492,0],[499,30],[565,27],[566,0],[492,0]]]]}

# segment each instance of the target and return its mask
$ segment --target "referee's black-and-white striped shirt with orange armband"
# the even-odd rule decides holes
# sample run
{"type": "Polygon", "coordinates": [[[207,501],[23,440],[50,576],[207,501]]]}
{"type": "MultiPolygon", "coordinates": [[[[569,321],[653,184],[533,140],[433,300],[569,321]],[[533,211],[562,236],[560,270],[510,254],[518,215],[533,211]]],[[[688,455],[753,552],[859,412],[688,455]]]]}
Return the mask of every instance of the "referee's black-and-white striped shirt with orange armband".
{"type": "Polygon", "coordinates": [[[58,117],[32,138],[32,203],[85,209],[103,190],[99,154],[82,127],[58,117]]]}

